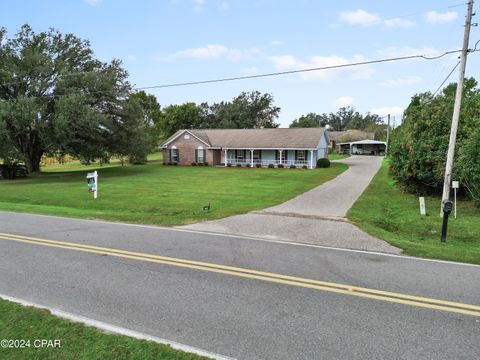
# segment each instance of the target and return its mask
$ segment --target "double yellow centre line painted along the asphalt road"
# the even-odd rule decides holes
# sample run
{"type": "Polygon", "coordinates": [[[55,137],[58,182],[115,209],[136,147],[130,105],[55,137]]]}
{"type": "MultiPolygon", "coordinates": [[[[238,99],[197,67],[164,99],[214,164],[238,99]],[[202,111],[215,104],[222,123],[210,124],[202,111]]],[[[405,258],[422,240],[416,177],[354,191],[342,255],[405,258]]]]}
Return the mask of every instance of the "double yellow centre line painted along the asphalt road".
{"type": "Polygon", "coordinates": [[[425,298],[421,296],[406,295],[401,293],[394,293],[388,291],[381,291],[369,288],[363,288],[352,285],[337,284],[327,281],[320,281],[308,278],[294,277],[288,275],[275,274],[264,271],[256,271],[245,268],[238,268],[234,266],[218,265],[206,263],[201,261],[192,261],[185,259],[178,259],[166,256],[159,256],[154,254],[118,250],[112,248],[105,248],[93,245],[83,245],[78,243],[70,243],[64,241],[39,239],[29,236],[20,236],[13,234],[0,233],[0,239],[22,242],[28,244],[35,244],[41,246],[49,246],[61,249],[76,250],[87,253],[110,255],[124,259],[132,259],[139,261],[147,261],[157,264],[165,264],[171,266],[179,266],[183,268],[209,271],[230,276],[237,276],[248,279],[256,279],[268,281],[278,284],[285,284],[291,286],[298,286],[303,288],[328,291],[342,295],[358,296],[367,299],[375,299],[381,301],[388,301],[392,303],[417,306],[422,308],[447,311],[452,313],[459,313],[464,315],[472,315],[480,317],[480,306],[462,304],[458,302],[437,300],[425,298]]]}

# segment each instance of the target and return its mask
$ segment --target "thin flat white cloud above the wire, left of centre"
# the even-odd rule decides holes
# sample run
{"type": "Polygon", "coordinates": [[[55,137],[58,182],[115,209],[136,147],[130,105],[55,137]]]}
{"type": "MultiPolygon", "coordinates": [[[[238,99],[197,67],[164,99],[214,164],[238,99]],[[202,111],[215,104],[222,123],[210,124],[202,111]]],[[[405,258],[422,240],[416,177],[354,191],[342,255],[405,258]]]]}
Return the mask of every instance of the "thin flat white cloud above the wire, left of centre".
{"type": "Polygon", "coordinates": [[[204,47],[180,50],[176,53],[158,58],[163,62],[171,62],[177,58],[190,58],[196,60],[211,60],[225,57],[231,61],[252,60],[260,53],[256,48],[252,49],[232,49],[224,45],[209,44],[204,47]]]}

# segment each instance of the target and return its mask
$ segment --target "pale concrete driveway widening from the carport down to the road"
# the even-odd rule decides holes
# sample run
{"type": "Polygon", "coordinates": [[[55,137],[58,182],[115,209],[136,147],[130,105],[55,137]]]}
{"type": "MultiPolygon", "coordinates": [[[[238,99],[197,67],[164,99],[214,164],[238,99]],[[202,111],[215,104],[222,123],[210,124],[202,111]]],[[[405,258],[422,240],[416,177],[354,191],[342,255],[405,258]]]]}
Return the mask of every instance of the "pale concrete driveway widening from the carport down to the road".
{"type": "Polygon", "coordinates": [[[366,234],[345,219],[382,160],[377,156],[340,160],[349,166],[347,171],[283,204],[181,228],[399,254],[400,249],[366,234]]]}

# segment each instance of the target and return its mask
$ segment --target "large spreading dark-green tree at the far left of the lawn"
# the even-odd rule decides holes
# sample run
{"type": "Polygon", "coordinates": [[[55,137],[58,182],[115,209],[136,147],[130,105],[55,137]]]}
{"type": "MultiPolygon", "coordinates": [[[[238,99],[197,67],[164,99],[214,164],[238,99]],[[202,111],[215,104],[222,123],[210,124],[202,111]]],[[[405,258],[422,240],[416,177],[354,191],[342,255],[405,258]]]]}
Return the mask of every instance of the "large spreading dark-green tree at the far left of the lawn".
{"type": "MultiPolygon", "coordinates": [[[[88,41],[54,29],[0,30],[0,131],[29,172],[44,154],[108,156],[130,91],[118,60],[102,63],[88,41]],[[2,130],[3,129],[3,130],[2,130]]],[[[0,136],[0,137],[1,137],[0,136]]]]}

